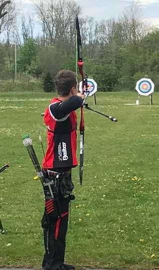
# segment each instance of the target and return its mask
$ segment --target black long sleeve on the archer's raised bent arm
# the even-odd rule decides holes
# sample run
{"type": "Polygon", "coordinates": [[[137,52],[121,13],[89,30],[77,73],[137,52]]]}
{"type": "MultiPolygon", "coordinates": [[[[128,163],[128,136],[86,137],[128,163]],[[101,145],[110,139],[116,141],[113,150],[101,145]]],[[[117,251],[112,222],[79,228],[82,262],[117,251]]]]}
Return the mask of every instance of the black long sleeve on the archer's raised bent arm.
{"type": "Polygon", "coordinates": [[[58,102],[50,106],[50,110],[55,118],[63,118],[66,114],[73,110],[80,108],[82,105],[82,99],[80,96],[71,96],[68,100],[64,102],[58,102]]]}

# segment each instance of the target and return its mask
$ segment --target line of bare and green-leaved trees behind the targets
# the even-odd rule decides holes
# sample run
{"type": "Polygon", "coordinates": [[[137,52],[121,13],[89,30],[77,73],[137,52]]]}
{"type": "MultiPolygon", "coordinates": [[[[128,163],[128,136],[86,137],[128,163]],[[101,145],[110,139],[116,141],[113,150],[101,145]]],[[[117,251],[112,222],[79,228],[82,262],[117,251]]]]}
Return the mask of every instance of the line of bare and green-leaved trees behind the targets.
{"type": "Polygon", "coordinates": [[[59,70],[76,71],[75,18],[79,14],[83,70],[97,82],[98,90],[134,90],[145,75],[158,90],[159,29],[144,24],[138,2],[132,1],[118,19],[99,22],[83,17],[74,0],[36,0],[34,14],[19,17],[17,13],[15,4],[0,0],[1,81],[15,82],[15,63],[17,82],[43,81],[46,89],[49,84],[54,89],[59,70]]]}

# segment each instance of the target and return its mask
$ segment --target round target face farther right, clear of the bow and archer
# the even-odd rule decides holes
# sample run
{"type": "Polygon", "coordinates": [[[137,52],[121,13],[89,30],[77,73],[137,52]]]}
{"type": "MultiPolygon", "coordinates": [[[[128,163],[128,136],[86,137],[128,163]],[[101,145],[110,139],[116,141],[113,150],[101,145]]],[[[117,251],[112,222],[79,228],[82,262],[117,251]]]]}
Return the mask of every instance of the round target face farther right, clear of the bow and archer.
{"type": "Polygon", "coordinates": [[[149,95],[154,92],[155,85],[151,79],[143,78],[136,83],[136,90],[141,95],[149,95]]]}

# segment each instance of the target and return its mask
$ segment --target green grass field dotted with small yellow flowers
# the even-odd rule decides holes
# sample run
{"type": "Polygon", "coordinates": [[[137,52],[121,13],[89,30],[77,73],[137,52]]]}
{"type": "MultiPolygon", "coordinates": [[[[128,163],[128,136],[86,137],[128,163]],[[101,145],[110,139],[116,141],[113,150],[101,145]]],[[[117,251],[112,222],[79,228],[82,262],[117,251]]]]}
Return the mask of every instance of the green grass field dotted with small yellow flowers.
{"type": "MultiPolygon", "coordinates": [[[[41,163],[37,132],[46,147],[40,113],[52,98],[48,93],[0,93],[0,267],[40,269],[44,253],[40,227],[44,196],[21,136],[32,138],[41,163]]],[[[97,94],[93,108],[118,119],[85,110],[83,184],[73,170],[76,200],[72,229],[67,234],[66,261],[79,267],[159,268],[159,92],[97,94]]],[[[80,117],[80,111],[78,111],[80,117]]],[[[79,153],[79,152],[78,152],[79,153]]]]}

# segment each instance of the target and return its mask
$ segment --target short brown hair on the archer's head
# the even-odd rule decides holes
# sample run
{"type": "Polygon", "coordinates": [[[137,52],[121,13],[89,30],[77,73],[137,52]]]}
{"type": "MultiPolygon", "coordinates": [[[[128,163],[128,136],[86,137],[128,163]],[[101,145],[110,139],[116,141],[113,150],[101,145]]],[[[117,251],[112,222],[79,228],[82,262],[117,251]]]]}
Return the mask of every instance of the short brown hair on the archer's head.
{"type": "Polygon", "coordinates": [[[55,77],[56,90],[59,95],[67,96],[77,86],[77,75],[71,70],[61,70],[55,77]]]}

